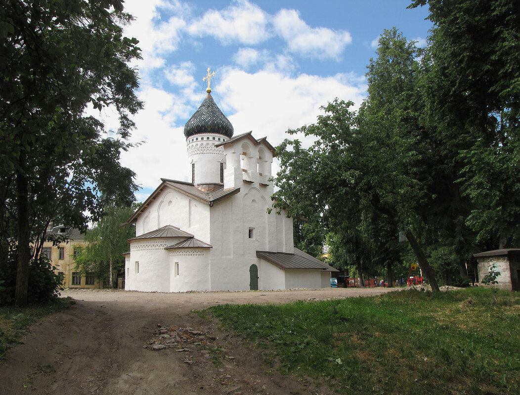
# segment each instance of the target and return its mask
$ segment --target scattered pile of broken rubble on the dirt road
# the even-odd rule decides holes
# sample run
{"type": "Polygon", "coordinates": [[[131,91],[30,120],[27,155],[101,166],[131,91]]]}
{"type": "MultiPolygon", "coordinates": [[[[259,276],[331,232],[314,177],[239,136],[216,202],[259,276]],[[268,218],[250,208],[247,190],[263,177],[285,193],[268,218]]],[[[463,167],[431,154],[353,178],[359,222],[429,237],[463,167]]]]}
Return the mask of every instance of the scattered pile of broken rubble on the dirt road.
{"type": "Polygon", "coordinates": [[[208,330],[200,331],[193,328],[177,328],[176,326],[165,327],[157,324],[157,329],[145,331],[153,333],[153,339],[149,340],[143,348],[150,350],[175,349],[178,352],[189,352],[188,345],[201,346],[206,345],[214,340],[208,330]]]}

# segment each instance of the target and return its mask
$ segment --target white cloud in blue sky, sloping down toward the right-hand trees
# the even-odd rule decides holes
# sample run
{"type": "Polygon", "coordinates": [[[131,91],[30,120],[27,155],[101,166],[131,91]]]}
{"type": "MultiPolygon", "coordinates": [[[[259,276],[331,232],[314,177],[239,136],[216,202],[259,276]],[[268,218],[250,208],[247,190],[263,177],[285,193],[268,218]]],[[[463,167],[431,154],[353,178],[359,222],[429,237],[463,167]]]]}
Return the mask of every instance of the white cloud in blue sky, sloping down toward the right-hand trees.
{"type": "Polygon", "coordinates": [[[352,42],[352,36],[346,31],[311,28],[296,10],[280,10],[274,18],[274,26],[287,42],[289,51],[311,58],[339,59],[345,46],[352,42]]]}

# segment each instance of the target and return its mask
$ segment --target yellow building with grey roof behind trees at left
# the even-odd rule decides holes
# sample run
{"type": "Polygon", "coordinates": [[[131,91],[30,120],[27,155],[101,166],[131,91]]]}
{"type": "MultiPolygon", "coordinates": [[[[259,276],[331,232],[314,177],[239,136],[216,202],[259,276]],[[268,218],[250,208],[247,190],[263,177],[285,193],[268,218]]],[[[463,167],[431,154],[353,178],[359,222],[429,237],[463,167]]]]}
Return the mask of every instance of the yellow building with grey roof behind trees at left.
{"type": "Polygon", "coordinates": [[[63,273],[65,288],[103,288],[103,281],[95,278],[94,273],[81,275],[76,270],[74,255],[86,246],[83,235],[76,228],[67,226],[54,226],[47,230],[47,236],[60,235],[66,236],[67,241],[53,246],[53,242],[45,241],[42,248],[42,256],[46,256],[53,266],[56,266],[56,273],[63,273]]]}

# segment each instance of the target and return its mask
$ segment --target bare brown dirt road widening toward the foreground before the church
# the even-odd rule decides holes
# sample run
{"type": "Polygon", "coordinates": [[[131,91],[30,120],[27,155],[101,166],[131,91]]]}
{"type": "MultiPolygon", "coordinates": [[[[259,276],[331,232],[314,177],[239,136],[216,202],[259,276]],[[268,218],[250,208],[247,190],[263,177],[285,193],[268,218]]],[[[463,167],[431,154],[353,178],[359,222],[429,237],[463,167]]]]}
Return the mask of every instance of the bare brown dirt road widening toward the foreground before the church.
{"type": "Polygon", "coordinates": [[[262,363],[252,345],[222,332],[216,321],[202,319],[192,310],[390,290],[66,290],[62,296],[73,297],[77,304],[36,324],[24,344],[11,350],[0,363],[0,394],[327,394],[326,387],[313,382],[280,376],[262,363]],[[162,338],[153,333],[159,326],[167,328],[161,331],[166,332],[162,338]],[[158,340],[166,347],[150,349],[158,340]]]}

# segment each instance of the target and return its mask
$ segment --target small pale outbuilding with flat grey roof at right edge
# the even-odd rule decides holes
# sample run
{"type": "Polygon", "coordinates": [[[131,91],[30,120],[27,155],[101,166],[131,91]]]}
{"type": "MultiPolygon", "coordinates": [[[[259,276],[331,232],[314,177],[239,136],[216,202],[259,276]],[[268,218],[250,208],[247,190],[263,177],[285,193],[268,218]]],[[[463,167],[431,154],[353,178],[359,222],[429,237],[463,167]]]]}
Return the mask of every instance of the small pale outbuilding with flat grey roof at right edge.
{"type": "Polygon", "coordinates": [[[495,265],[495,271],[500,272],[497,277],[498,288],[520,291],[520,248],[509,248],[480,252],[473,255],[477,260],[479,281],[489,273],[489,268],[495,265]]]}

